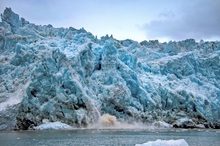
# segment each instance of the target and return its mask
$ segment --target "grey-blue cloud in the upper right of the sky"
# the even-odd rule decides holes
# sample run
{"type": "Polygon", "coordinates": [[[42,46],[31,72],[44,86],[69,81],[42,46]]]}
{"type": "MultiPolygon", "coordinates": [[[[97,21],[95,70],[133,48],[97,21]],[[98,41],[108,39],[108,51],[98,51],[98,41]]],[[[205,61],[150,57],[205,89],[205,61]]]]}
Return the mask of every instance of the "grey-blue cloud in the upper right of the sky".
{"type": "Polygon", "coordinates": [[[143,26],[150,39],[220,38],[220,1],[185,1],[178,12],[167,11],[143,26]]]}

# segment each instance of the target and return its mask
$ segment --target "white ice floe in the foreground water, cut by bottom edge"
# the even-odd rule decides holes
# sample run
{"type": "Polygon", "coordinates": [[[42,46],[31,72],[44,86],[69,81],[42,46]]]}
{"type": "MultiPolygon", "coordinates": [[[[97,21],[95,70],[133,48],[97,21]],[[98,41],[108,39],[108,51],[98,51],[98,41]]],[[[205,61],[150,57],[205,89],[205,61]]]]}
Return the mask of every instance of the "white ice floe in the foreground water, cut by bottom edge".
{"type": "Polygon", "coordinates": [[[189,146],[188,143],[184,139],[178,140],[156,140],[149,141],[143,144],[136,144],[135,146],[189,146]]]}

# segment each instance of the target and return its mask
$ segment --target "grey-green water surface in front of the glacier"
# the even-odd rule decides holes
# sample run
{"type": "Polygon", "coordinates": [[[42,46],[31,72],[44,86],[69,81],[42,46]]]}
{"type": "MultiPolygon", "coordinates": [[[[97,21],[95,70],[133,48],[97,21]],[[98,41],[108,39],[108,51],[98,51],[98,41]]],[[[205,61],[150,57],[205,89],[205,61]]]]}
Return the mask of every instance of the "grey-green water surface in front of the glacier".
{"type": "Polygon", "coordinates": [[[219,130],[51,130],[0,132],[0,146],[134,146],[185,139],[190,146],[220,146],[219,130]]]}

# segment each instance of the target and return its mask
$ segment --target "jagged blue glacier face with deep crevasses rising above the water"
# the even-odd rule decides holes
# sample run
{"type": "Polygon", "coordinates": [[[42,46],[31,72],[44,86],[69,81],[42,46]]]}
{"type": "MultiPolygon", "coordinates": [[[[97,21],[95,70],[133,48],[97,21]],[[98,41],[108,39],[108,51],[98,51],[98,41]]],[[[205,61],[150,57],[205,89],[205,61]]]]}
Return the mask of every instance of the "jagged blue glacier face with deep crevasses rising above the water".
{"type": "Polygon", "coordinates": [[[97,39],[35,25],[6,8],[0,22],[0,130],[43,120],[88,127],[101,115],[174,127],[220,127],[220,42],[97,39]]]}

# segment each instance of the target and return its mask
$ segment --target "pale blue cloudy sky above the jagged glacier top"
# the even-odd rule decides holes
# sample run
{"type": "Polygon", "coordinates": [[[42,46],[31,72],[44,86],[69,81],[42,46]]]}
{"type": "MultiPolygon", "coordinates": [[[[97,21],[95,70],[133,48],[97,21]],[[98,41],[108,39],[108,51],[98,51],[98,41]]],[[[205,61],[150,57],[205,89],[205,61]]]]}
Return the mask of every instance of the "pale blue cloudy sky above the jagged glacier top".
{"type": "Polygon", "coordinates": [[[220,40],[220,0],[0,0],[38,25],[85,28],[97,37],[220,40]]]}

